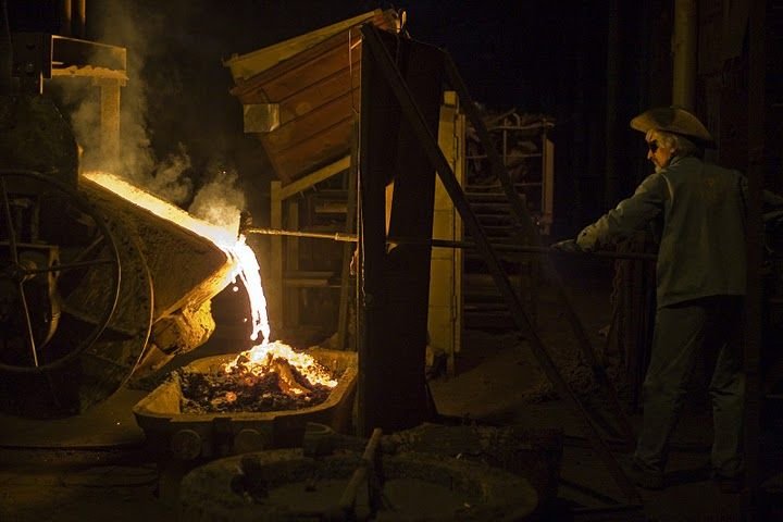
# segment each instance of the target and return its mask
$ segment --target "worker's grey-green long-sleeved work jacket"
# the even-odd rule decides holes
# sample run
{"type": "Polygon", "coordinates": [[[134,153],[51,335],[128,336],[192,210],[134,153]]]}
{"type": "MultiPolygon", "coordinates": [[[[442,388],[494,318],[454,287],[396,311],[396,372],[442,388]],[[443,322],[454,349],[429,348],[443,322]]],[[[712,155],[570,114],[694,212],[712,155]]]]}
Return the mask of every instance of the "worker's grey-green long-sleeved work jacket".
{"type": "Polygon", "coordinates": [[[662,215],[656,266],[658,307],[708,296],[742,296],[746,286],[745,199],[738,171],[673,158],[634,195],[584,228],[585,249],[616,241],[662,215]]]}

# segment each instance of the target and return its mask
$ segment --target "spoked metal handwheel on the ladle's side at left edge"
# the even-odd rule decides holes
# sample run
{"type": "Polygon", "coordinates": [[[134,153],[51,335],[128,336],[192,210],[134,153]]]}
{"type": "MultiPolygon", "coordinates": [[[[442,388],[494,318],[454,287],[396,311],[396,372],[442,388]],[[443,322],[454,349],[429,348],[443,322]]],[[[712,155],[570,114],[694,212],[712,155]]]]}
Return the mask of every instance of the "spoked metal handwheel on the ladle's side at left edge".
{"type": "Polygon", "coordinates": [[[46,373],[73,362],[109,324],[120,283],[114,237],[86,198],[36,171],[0,170],[0,370],[46,373]],[[78,335],[63,334],[69,296],[96,278],[99,296],[78,335]]]}

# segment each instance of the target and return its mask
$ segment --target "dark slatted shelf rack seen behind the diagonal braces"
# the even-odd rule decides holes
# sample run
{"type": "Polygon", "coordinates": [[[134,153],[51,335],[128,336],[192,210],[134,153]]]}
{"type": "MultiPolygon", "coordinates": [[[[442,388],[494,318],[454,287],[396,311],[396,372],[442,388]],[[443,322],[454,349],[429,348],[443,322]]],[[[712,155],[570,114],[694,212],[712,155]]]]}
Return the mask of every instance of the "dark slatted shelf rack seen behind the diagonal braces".
{"type": "MultiPolygon", "coordinates": [[[[539,233],[548,236],[555,201],[555,122],[544,115],[518,114],[485,116],[493,145],[513,188],[524,202],[539,233]]],[[[471,129],[472,130],[472,129],[471,129]]],[[[494,245],[530,245],[532,237],[521,234],[508,196],[492,172],[488,153],[475,130],[467,144],[465,196],[494,245]]],[[[538,256],[499,252],[509,277],[535,321],[540,285],[538,256]]],[[[507,328],[513,320],[477,252],[467,252],[463,277],[465,327],[507,328]]]]}

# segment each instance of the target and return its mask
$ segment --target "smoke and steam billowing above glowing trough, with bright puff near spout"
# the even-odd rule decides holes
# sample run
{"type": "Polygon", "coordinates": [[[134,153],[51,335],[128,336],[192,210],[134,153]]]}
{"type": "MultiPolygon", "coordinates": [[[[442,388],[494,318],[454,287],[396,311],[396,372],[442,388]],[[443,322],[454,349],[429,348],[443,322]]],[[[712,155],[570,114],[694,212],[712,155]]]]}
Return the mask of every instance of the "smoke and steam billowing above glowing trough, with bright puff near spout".
{"type": "MultiPolygon", "coordinates": [[[[194,173],[187,147],[182,142],[164,153],[157,153],[152,147],[148,113],[154,103],[150,100],[156,94],[183,90],[173,69],[146,69],[153,53],[166,52],[166,46],[162,44],[166,26],[153,9],[156,2],[145,5],[133,0],[111,0],[104,5],[88,25],[98,41],[124,47],[127,51],[128,80],[121,89],[116,156],[109,157],[101,151],[99,89],[88,82],[70,82],[72,78],[58,83],[83,150],[82,169],[111,172],[181,207],[190,203],[191,213],[201,219],[236,226],[239,210],[245,204],[244,196],[234,188],[238,178],[236,173],[229,174],[222,169],[207,175],[194,173]],[[154,83],[149,84],[149,78],[154,83]],[[154,85],[154,89],[148,85],[154,85]],[[194,177],[211,179],[197,191],[194,177]],[[234,223],[227,222],[226,215],[233,215],[234,223]]],[[[176,125],[170,132],[176,133],[176,125]]]]}

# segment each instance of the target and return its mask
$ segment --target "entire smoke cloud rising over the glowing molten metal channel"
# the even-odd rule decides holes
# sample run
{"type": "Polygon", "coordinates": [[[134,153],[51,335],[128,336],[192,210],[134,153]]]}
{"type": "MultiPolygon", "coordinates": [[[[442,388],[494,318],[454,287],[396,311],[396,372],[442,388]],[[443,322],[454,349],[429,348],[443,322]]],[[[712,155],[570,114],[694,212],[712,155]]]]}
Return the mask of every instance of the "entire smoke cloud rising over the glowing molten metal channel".
{"type": "MultiPolygon", "coordinates": [[[[182,105],[171,104],[171,100],[184,98],[186,89],[196,88],[178,72],[183,57],[175,42],[181,36],[177,30],[184,30],[195,12],[192,5],[166,2],[166,9],[161,9],[160,2],[139,0],[91,5],[97,7],[88,20],[91,39],[126,49],[128,79],[121,88],[120,144],[113,152],[101,146],[100,89],[79,78],[55,82],[83,151],[82,170],[110,172],[202,220],[236,229],[246,203],[236,188],[238,174],[214,166],[215,161],[203,166],[204,172],[195,171],[183,142],[186,130],[194,129],[194,120],[188,127],[182,120],[182,105]],[[177,27],[166,23],[172,17],[177,27]],[[152,120],[159,128],[153,128],[152,120]],[[196,181],[201,179],[206,183],[199,187],[196,181]]],[[[217,61],[215,69],[222,69],[217,61]]],[[[198,117],[197,112],[187,111],[191,117],[198,117]]]]}

